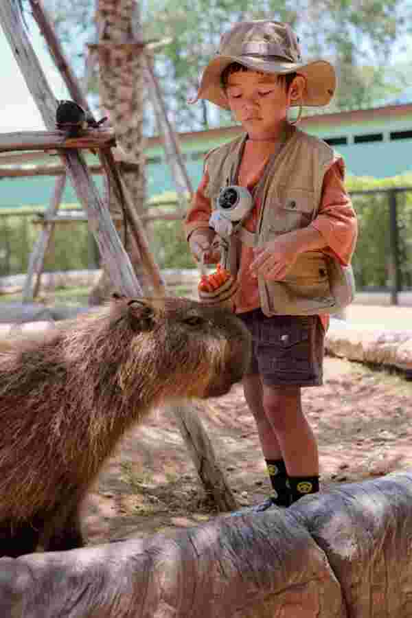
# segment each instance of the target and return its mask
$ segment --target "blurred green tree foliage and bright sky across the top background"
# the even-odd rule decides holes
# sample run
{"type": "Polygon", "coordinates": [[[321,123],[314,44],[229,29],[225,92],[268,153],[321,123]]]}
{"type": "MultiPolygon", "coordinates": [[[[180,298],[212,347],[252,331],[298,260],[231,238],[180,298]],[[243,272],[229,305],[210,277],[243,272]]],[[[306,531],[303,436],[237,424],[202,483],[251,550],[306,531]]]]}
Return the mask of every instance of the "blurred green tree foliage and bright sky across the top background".
{"type": "MultiPolygon", "coordinates": [[[[180,130],[231,123],[213,104],[187,104],[223,32],[244,19],[289,21],[306,58],[326,58],[336,67],[339,89],[328,110],[364,108],[404,87],[393,71],[393,45],[407,31],[409,0],[148,0],[142,12],[146,38],[172,42],[156,56],[156,67],[172,119],[180,130]]],[[[45,0],[73,66],[84,72],[84,43],[94,36],[94,2],[45,0]],[[80,43],[80,45],[79,45],[80,43]]],[[[97,81],[89,87],[96,91],[97,81]]],[[[148,126],[150,122],[148,123],[148,126]]]]}

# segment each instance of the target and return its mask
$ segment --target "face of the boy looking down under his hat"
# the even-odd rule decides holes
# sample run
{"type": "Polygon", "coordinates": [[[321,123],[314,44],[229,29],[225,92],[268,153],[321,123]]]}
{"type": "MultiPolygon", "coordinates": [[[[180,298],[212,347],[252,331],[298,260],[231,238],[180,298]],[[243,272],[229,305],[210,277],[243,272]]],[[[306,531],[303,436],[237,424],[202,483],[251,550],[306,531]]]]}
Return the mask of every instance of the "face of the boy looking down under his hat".
{"type": "Polygon", "coordinates": [[[249,139],[277,139],[291,97],[299,95],[295,82],[286,91],[286,84],[278,76],[255,71],[231,73],[227,79],[226,95],[231,112],[249,135],[249,139]]]}

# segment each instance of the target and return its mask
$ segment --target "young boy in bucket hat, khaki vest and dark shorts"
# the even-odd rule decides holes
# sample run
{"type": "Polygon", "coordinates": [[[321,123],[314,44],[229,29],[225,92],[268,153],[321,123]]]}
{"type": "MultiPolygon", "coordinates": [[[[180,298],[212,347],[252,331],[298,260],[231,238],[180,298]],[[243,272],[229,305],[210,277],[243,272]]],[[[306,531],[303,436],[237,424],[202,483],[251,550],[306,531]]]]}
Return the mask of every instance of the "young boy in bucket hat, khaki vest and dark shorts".
{"type": "Polygon", "coordinates": [[[238,233],[233,308],[253,336],[244,395],[273,486],[258,511],[319,491],[317,441],[301,387],[322,383],[333,306],[328,260],[350,263],[357,228],[343,160],[288,122],[288,111],[328,104],[335,87],[332,65],[305,63],[288,24],[262,20],[222,36],[198,90],[197,99],[230,109],[244,129],[207,155],[185,229],[196,259],[218,262],[209,217],[220,188],[251,192],[253,209],[238,233]]]}

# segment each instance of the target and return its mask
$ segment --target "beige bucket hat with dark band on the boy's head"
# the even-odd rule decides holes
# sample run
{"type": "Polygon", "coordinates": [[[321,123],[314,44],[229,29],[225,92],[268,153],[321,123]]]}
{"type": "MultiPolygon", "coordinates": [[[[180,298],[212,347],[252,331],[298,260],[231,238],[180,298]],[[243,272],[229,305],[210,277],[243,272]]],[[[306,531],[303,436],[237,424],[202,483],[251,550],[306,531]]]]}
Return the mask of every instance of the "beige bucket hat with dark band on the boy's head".
{"type": "Polygon", "coordinates": [[[299,39],[290,25],[261,19],[237,23],[222,35],[218,52],[203,71],[197,96],[192,102],[207,99],[229,109],[220,76],[231,62],[239,62],[244,67],[263,73],[285,75],[296,71],[305,76],[304,97],[294,105],[327,105],[336,89],[336,74],[330,62],[304,62],[299,39]]]}

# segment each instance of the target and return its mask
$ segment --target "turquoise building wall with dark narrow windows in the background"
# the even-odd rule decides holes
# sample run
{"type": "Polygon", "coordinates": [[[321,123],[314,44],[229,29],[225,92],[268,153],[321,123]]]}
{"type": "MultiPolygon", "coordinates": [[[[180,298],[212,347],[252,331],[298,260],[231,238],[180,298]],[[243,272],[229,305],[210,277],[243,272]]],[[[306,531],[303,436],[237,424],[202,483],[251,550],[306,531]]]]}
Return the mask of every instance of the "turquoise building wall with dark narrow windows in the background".
{"type": "MultiPolygon", "coordinates": [[[[385,178],[412,172],[411,104],[312,115],[302,120],[301,128],[333,145],[344,157],[349,174],[385,178]]],[[[233,139],[238,133],[239,127],[227,127],[180,135],[185,165],[194,187],[201,179],[205,153],[233,139]]],[[[173,192],[174,184],[168,165],[163,161],[159,139],[148,139],[146,152],[148,196],[173,192]]],[[[100,177],[95,176],[95,181],[101,186],[100,177]]],[[[54,182],[55,179],[46,176],[2,179],[0,207],[47,204],[54,182]]],[[[63,200],[67,203],[77,201],[70,183],[67,183],[63,200]]]]}

